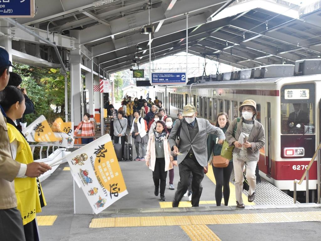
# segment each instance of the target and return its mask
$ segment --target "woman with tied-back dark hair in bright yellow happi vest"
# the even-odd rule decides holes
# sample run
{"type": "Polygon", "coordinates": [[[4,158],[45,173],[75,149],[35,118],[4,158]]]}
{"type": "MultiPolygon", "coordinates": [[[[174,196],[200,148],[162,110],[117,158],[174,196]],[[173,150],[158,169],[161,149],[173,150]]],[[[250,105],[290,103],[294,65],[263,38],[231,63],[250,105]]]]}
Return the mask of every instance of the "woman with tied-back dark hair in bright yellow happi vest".
{"type": "MultiPolygon", "coordinates": [[[[7,115],[12,158],[23,164],[33,162],[31,148],[22,132],[18,129],[17,125],[20,124],[16,123],[16,120],[22,117],[26,108],[22,91],[16,87],[7,86],[0,92],[0,103],[7,115]]],[[[14,187],[18,203],[17,209],[21,213],[26,241],[38,241],[36,213],[41,212],[41,206],[46,205],[40,182],[38,180],[37,183],[36,177],[25,176],[15,178],[14,187]]]]}

